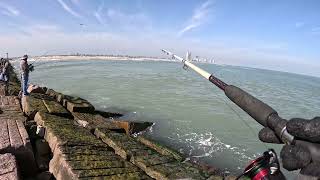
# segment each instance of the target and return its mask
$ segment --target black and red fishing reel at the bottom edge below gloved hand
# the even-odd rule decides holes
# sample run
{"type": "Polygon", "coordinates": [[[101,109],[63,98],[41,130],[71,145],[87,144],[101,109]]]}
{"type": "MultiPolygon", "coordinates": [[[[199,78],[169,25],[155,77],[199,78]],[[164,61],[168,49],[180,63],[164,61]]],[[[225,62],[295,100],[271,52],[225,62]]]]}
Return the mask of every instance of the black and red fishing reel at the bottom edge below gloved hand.
{"type": "Polygon", "coordinates": [[[280,164],[277,154],[273,149],[269,149],[268,151],[265,151],[261,157],[251,161],[243,173],[236,178],[236,180],[240,179],[241,177],[252,180],[279,179],[279,177],[272,178],[272,175],[279,174],[279,172],[280,164]]]}

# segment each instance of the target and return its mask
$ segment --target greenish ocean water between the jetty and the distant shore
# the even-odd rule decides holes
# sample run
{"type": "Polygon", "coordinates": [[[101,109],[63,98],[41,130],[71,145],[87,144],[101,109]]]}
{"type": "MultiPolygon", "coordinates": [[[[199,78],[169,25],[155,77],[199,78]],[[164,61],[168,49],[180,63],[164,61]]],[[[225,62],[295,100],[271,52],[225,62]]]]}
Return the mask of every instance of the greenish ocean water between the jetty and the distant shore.
{"type": "MultiPolygon", "coordinates": [[[[281,145],[258,140],[261,125],[210,82],[183,70],[180,63],[73,60],[35,65],[31,83],[83,97],[97,109],[123,113],[124,119],[155,122],[146,132],[150,138],[227,173],[239,174],[267,148],[280,153],[281,145]]],[[[198,65],[266,102],[283,118],[320,115],[319,78],[198,65]]]]}

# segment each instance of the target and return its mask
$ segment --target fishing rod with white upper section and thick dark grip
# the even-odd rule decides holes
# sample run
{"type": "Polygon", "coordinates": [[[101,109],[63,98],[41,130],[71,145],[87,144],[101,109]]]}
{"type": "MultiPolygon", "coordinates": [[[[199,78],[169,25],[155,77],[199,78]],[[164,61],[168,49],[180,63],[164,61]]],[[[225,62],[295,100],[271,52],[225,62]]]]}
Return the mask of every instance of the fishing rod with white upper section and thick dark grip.
{"type": "Polygon", "coordinates": [[[161,51],[171,56],[173,59],[180,60],[184,64],[184,69],[188,67],[191,68],[192,70],[209,80],[211,83],[213,83],[219,89],[224,91],[225,95],[232,102],[234,102],[237,106],[244,110],[254,120],[256,120],[264,127],[272,129],[283,143],[290,145],[300,145],[307,148],[311,154],[312,161],[320,162],[320,144],[299,140],[289,134],[286,128],[286,124],[288,121],[282,119],[278,115],[277,111],[275,111],[269,105],[250,95],[246,91],[234,85],[229,85],[215,77],[213,74],[210,74],[207,71],[192,64],[191,62],[189,62],[191,61],[191,54],[189,52],[187,53],[186,59],[184,59],[167,50],[161,49],[161,51]]]}

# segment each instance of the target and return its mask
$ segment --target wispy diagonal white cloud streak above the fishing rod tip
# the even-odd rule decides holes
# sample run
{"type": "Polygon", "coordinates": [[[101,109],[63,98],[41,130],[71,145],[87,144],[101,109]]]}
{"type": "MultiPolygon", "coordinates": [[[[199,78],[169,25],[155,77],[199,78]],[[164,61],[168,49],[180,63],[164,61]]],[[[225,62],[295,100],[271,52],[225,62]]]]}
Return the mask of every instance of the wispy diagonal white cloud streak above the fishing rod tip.
{"type": "Polygon", "coordinates": [[[210,7],[212,5],[211,0],[207,0],[201,6],[197,7],[193,11],[192,17],[187,21],[187,25],[184,26],[179,32],[178,36],[182,36],[184,33],[187,31],[190,31],[200,25],[202,25],[208,18],[209,12],[210,12],[210,7]]]}

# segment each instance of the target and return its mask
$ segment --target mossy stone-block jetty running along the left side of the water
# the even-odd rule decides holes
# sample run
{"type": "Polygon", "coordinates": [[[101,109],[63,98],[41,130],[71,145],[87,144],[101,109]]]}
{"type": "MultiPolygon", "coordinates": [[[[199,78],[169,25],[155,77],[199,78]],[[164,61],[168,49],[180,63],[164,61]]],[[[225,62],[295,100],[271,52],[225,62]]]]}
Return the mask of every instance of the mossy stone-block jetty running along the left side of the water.
{"type": "Polygon", "coordinates": [[[233,179],[143,135],[152,122],[130,122],[87,100],[20,81],[9,65],[0,83],[0,179],[233,179]]]}

